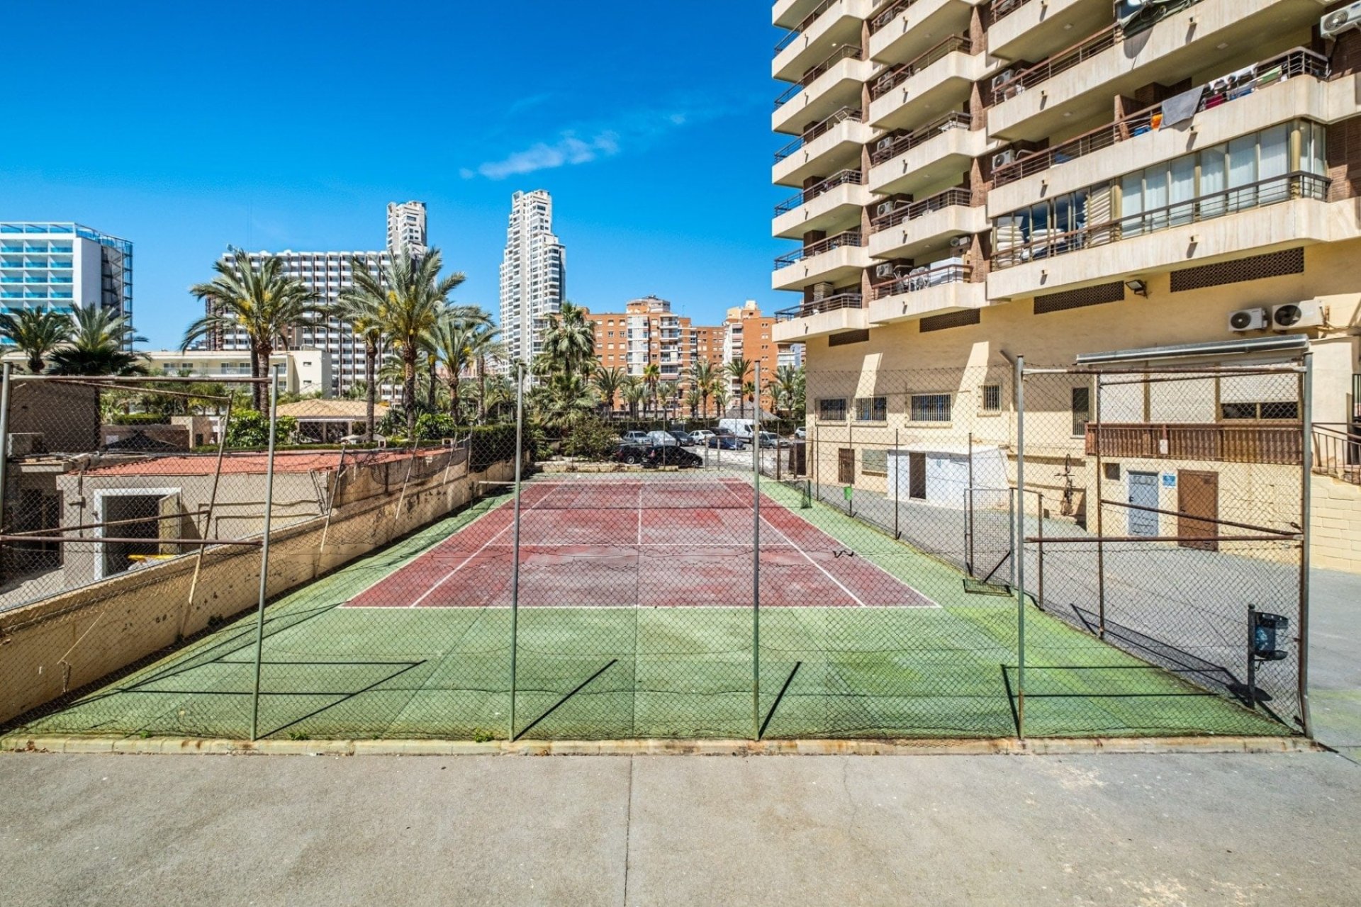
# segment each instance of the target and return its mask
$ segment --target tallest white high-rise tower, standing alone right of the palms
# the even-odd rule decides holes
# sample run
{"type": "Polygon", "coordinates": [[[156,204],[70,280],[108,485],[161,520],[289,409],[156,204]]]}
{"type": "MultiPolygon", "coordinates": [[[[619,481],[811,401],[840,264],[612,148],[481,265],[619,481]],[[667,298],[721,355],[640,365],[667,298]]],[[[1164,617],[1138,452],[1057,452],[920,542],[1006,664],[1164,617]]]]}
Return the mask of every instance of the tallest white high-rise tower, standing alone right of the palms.
{"type": "Polygon", "coordinates": [[[553,196],[543,189],[510,197],[501,260],[501,337],[510,362],[540,351],[544,320],[566,294],[566,250],[553,233],[553,196]]]}

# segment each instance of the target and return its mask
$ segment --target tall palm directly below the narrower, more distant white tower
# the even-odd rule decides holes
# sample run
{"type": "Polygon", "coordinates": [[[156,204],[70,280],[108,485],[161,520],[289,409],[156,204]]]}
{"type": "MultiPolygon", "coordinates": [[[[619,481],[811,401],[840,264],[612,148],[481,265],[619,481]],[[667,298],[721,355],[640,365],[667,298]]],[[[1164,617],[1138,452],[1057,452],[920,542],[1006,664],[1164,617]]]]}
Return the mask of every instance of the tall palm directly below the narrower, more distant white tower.
{"type": "Polygon", "coordinates": [[[416,363],[426,337],[449,311],[449,294],[464,281],[463,272],[440,277],[444,256],[431,247],[412,258],[403,249],[382,265],[382,273],[351,265],[352,292],[367,299],[382,325],[382,336],[401,360],[401,401],[407,437],[416,430],[416,363]]]}

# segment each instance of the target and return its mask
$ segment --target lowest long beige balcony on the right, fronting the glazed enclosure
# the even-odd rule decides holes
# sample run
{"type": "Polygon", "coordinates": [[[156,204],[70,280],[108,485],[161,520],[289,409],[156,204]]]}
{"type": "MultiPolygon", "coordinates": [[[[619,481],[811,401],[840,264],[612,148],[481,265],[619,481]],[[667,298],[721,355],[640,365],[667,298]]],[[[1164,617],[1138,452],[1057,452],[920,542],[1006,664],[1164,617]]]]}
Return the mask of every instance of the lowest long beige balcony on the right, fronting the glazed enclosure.
{"type": "Polygon", "coordinates": [[[1361,231],[1350,213],[1341,216],[1345,205],[1326,201],[1328,185],[1327,177],[1289,173],[1068,233],[1032,230],[1025,242],[1014,243],[1000,235],[999,224],[988,298],[1026,298],[1184,265],[1356,238],[1361,231]],[[1267,207],[1274,208],[1270,216],[1255,213],[1267,207]],[[1232,216],[1239,213],[1247,216],[1232,216]]]}

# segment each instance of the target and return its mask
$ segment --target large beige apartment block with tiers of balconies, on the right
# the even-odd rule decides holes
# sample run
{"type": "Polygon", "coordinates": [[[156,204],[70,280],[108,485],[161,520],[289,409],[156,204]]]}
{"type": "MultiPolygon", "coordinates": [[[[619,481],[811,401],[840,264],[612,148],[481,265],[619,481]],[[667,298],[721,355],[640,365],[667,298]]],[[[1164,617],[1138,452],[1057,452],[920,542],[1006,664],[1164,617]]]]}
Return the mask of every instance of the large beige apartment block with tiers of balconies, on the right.
{"type": "MultiPolygon", "coordinates": [[[[810,470],[883,491],[883,457],[866,468],[857,441],[878,432],[991,443],[1014,479],[1018,355],[1057,367],[1134,351],[1121,366],[1151,374],[1312,352],[1315,563],[1361,570],[1351,5],[776,3],[788,31],[772,75],[789,84],[772,128],[789,141],[772,179],[791,196],[772,234],[796,245],[774,262],[772,287],[791,305],[772,340],[806,344],[810,437],[838,438],[810,470]],[[1305,345],[1283,351],[1292,337],[1305,345]]],[[[1029,400],[1045,466],[1090,460],[1083,382],[1047,381],[1029,400]]],[[[1271,445],[1293,431],[1302,447],[1283,383],[1172,386],[1100,392],[1102,426],[1131,438],[1195,426],[1263,450],[1285,450],[1271,445]]],[[[1120,481],[1149,468],[1127,453],[1111,472],[1120,481]]],[[[1179,468],[1259,502],[1288,484],[1228,462],[1179,468]]],[[[1162,485],[1160,507],[1176,510],[1175,488],[1162,485]]],[[[1072,509],[1092,494],[1077,488],[1072,509]]]]}

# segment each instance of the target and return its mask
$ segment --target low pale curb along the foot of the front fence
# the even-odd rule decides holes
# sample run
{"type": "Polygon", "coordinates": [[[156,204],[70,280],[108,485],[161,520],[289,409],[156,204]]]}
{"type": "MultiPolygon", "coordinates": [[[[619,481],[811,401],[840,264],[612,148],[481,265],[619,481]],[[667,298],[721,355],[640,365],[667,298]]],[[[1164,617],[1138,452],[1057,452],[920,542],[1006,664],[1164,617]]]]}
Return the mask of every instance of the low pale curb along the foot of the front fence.
{"type": "Polygon", "coordinates": [[[1304,737],[1089,737],[995,740],[211,740],[0,738],[0,752],[265,756],[1066,756],[1090,753],[1328,752],[1304,737]]]}

